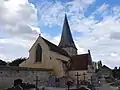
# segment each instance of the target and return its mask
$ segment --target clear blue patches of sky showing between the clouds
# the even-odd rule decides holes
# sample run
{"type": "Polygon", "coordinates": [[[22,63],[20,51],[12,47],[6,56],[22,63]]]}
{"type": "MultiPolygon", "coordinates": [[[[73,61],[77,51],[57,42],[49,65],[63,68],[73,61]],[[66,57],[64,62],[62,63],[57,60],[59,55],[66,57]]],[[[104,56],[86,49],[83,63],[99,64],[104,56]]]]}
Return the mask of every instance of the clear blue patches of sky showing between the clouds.
{"type": "MultiPolygon", "coordinates": [[[[64,5],[65,3],[68,3],[68,2],[71,2],[71,1],[72,0],[29,0],[29,2],[32,3],[35,6],[35,8],[38,10],[37,11],[38,12],[38,15],[37,15],[38,21],[39,21],[39,18],[41,17],[41,15],[39,15],[39,12],[41,12],[41,11],[39,11],[40,10],[39,6],[41,5],[41,3],[46,2],[46,5],[47,5],[48,2],[49,2],[49,3],[52,3],[52,5],[54,5],[54,4],[58,3],[58,2],[60,2],[61,4],[64,5]]],[[[108,14],[113,14],[111,8],[114,7],[114,6],[120,5],[120,1],[119,0],[114,0],[114,1],[113,0],[95,0],[92,4],[90,4],[88,6],[88,8],[86,8],[84,10],[84,16],[86,18],[89,18],[92,15],[92,13],[94,13],[95,10],[97,8],[100,8],[103,4],[108,4],[109,5],[109,7],[107,9],[108,14]]],[[[45,6],[45,3],[44,3],[43,6],[45,6]]],[[[67,9],[68,8],[64,9],[65,13],[67,13],[66,12],[67,9]]],[[[64,17],[62,17],[62,18],[64,18],[64,17]]],[[[103,20],[103,16],[101,15],[101,13],[97,12],[94,15],[94,19],[99,22],[99,21],[103,20]]],[[[42,22],[42,21],[40,21],[40,22],[42,22]]],[[[63,23],[63,22],[61,22],[61,23],[63,23]]],[[[61,33],[60,30],[62,30],[62,27],[60,27],[57,24],[53,25],[52,27],[44,26],[44,25],[39,24],[39,27],[41,28],[41,32],[47,32],[47,33],[49,33],[49,34],[51,34],[53,36],[56,36],[56,35],[60,34],[61,33]],[[52,30],[52,32],[51,32],[51,30],[52,30]]],[[[76,33],[75,33],[75,35],[76,35],[76,33]]]]}

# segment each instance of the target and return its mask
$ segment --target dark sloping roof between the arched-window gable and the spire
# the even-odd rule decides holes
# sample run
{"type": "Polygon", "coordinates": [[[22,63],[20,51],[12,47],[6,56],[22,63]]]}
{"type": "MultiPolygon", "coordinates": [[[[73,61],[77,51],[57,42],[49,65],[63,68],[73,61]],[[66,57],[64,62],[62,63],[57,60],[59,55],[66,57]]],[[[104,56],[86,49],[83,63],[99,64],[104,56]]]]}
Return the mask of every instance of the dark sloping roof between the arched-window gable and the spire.
{"type": "Polygon", "coordinates": [[[62,54],[62,55],[64,55],[64,56],[70,57],[70,56],[68,55],[68,53],[67,53],[65,50],[63,50],[62,48],[60,48],[60,47],[56,46],[55,44],[49,42],[48,40],[46,40],[46,39],[43,38],[43,37],[42,37],[42,39],[47,43],[47,45],[49,46],[50,50],[52,50],[52,51],[54,51],[54,52],[57,52],[57,53],[59,53],[59,54],[62,54]]]}

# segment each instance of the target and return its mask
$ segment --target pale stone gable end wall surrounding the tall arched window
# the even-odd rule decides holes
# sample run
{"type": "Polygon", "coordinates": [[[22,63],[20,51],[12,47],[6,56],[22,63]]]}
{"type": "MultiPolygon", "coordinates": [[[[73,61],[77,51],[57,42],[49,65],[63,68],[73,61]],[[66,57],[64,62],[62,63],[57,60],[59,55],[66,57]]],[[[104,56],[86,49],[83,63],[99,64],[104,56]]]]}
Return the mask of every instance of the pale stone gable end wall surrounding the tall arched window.
{"type": "Polygon", "coordinates": [[[50,54],[49,54],[49,47],[44,42],[44,40],[39,36],[36,42],[33,44],[31,49],[29,50],[29,58],[21,63],[20,67],[32,67],[32,68],[51,68],[49,64],[50,54]],[[42,61],[35,62],[36,60],[36,46],[39,44],[42,48],[42,61]]]}

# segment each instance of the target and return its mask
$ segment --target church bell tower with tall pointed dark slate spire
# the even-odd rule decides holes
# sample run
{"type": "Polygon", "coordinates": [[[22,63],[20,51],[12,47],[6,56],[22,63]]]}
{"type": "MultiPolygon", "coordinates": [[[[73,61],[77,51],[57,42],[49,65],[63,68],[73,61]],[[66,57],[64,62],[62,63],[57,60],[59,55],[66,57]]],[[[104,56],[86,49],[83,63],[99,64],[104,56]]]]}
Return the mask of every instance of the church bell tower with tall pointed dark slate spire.
{"type": "Polygon", "coordinates": [[[70,56],[77,55],[77,48],[72,38],[66,14],[64,18],[61,40],[58,46],[64,49],[70,56]]]}

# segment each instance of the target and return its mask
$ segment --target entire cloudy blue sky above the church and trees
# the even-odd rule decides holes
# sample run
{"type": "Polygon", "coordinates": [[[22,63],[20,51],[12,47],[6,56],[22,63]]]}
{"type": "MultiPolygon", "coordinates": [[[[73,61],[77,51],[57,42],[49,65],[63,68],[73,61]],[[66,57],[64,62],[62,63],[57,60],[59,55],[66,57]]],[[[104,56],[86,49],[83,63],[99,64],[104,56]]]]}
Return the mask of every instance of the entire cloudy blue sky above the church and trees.
{"type": "Polygon", "coordinates": [[[79,54],[120,65],[119,0],[0,0],[0,58],[28,57],[39,33],[58,45],[65,13],[79,54]]]}

